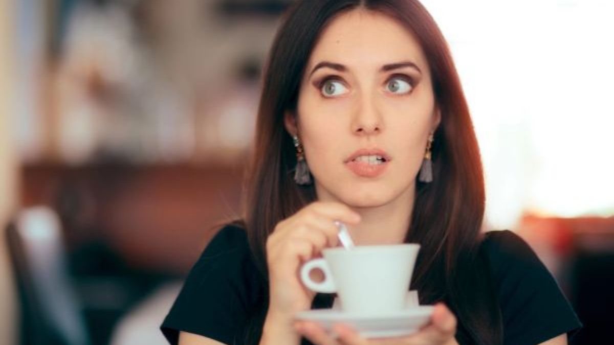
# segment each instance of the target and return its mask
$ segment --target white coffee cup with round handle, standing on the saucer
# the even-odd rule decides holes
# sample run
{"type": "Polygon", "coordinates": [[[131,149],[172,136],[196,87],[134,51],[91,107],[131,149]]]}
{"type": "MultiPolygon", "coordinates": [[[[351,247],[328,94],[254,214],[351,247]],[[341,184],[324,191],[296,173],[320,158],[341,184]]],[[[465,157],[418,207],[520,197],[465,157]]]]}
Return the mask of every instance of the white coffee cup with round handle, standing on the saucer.
{"type": "Polygon", "coordinates": [[[376,315],[401,311],[419,249],[419,244],[327,248],[322,250],[324,258],[301,267],[301,281],[314,292],[336,292],[346,312],[376,315]],[[322,282],[309,276],[317,268],[324,272],[322,282]]]}

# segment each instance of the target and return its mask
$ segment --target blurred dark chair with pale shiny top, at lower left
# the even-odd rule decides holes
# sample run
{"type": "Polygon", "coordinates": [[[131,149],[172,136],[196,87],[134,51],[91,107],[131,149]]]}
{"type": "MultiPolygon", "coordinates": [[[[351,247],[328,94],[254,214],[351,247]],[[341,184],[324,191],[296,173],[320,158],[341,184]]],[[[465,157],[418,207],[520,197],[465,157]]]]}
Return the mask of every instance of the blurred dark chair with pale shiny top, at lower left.
{"type": "Polygon", "coordinates": [[[25,209],[6,235],[20,298],[21,345],[90,345],[55,212],[25,209]]]}

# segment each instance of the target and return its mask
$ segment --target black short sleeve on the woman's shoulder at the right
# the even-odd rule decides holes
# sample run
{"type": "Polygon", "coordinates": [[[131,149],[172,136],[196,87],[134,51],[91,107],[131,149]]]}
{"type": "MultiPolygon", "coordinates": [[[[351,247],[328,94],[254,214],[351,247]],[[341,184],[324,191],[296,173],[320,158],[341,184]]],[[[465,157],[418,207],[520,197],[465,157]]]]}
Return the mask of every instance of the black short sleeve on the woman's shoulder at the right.
{"type": "Polygon", "coordinates": [[[529,245],[511,231],[491,231],[484,240],[503,317],[505,345],[535,345],[581,322],[559,285],[529,245]]]}

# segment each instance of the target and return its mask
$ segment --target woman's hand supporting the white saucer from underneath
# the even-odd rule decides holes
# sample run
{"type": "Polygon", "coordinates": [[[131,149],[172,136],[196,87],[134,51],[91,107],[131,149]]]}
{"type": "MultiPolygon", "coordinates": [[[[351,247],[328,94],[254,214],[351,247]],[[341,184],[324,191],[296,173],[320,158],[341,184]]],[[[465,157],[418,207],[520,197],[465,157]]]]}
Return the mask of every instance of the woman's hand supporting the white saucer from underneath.
{"type": "Polygon", "coordinates": [[[457,345],[456,317],[443,303],[435,305],[430,323],[417,333],[400,338],[365,339],[345,325],[335,325],[334,339],[315,322],[297,321],[296,330],[316,345],[457,345]]]}

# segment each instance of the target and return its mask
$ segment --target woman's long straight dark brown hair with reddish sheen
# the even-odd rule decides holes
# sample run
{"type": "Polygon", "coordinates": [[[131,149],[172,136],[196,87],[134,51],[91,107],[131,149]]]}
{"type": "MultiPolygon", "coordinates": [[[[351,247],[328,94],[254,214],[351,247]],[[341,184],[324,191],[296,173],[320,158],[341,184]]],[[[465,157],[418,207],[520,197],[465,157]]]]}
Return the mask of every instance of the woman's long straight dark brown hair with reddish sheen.
{"type": "Polygon", "coordinates": [[[296,110],[300,81],[322,29],[337,15],[363,8],[388,15],[418,39],[429,62],[441,111],[432,147],[433,182],[416,181],[416,200],[406,242],[421,244],[412,279],[421,304],[444,301],[459,321],[461,344],[501,344],[499,304],[488,263],[479,254],[484,216],[484,179],[467,102],[448,45],[417,0],[305,0],[286,13],[263,76],[254,152],[247,171],[245,224],[263,276],[263,303],[253,311],[257,343],[268,307],[266,238],[278,222],[316,200],[314,187],[292,179],[296,164],[284,113],[296,110]]]}

